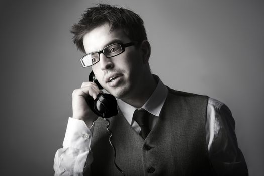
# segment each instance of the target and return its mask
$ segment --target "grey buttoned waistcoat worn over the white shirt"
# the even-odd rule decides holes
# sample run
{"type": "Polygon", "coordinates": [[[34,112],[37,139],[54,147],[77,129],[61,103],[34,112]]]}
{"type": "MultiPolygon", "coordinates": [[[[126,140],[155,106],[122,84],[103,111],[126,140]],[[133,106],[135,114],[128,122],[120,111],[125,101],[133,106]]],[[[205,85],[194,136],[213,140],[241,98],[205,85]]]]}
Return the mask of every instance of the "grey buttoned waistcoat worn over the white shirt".
{"type": "MultiPolygon", "coordinates": [[[[125,175],[208,174],[207,101],[206,96],[169,89],[161,115],[145,140],[120,111],[117,116],[109,118],[116,163],[125,175]]],[[[114,165],[107,124],[103,118],[95,122],[91,144],[94,157],[92,175],[122,175],[114,165]]]]}

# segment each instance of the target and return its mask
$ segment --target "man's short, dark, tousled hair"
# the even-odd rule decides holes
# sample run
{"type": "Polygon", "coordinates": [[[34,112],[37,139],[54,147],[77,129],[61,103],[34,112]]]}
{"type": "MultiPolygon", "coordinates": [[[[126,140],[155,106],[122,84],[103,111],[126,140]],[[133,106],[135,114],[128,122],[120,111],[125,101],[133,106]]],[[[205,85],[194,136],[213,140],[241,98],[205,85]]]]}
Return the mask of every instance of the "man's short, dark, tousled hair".
{"type": "Polygon", "coordinates": [[[118,28],[123,29],[131,41],[147,40],[144,22],[139,15],[122,7],[98,4],[96,7],[88,8],[79,22],[72,26],[73,43],[85,53],[83,36],[105,23],[110,25],[110,31],[118,28]]]}

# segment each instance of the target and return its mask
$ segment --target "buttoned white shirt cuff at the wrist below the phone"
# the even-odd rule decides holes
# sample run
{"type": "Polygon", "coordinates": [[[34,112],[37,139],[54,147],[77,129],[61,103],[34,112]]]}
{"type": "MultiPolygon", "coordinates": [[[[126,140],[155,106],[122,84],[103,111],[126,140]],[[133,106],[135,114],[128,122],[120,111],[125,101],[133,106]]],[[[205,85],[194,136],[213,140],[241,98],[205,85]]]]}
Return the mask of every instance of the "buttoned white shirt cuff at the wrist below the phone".
{"type": "Polygon", "coordinates": [[[91,141],[92,132],[86,126],[85,122],[69,117],[63,148],[71,147],[87,151],[90,149],[91,141]]]}

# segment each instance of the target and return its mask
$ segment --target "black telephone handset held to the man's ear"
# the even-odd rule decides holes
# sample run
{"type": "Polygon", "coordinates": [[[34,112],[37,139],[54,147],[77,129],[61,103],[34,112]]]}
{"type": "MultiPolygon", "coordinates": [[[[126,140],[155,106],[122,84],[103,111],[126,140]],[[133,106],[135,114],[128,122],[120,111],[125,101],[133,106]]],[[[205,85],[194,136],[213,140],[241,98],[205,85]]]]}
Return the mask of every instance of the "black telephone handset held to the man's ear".
{"type": "MultiPolygon", "coordinates": [[[[89,75],[89,81],[95,82],[99,89],[103,89],[93,71],[89,75]]],[[[87,103],[92,111],[100,117],[110,118],[118,114],[116,98],[111,94],[99,93],[95,100],[88,99],[87,103]]]]}

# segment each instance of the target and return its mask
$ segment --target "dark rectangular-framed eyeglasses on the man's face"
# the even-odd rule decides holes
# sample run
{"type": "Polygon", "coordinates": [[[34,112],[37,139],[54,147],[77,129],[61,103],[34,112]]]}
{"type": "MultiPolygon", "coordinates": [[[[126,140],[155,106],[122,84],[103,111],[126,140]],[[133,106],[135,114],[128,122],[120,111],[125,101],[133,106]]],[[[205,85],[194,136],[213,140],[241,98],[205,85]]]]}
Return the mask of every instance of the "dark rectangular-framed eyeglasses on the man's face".
{"type": "Polygon", "coordinates": [[[129,42],[126,44],[115,43],[115,44],[112,44],[112,45],[105,47],[104,49],[102,49],[100,51],[96,51],[96,52],[86,54],[85,56],[83,56],[80,59],[80,62],[81,62],[83,67],[92,66],[92,65],[96,64],[97,62],[99,62],[99,60],[100,60],[99,55],[101,53],[104,53],[104,55],[107,58],[114,57],[114,56],[117,56],[117,55],[125,52],[126,47],[132,46],[135,44],[136,44],[136,42],[129,42]]]}

